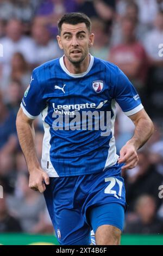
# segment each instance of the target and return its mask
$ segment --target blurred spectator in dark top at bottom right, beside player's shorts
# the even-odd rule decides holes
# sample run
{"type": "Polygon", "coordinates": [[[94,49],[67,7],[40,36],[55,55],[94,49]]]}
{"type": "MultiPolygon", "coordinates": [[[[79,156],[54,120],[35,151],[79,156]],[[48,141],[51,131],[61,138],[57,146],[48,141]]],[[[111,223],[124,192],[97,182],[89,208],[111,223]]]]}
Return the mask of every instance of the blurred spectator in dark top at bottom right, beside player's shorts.
{"type": "Polygon", "coordinates": [[[143,194],[136,200],[135,212],[137,219],[126,222],[124,233],[127,234],[158,234],[163,233],[163,222],[156,217],[155,199],[143,194]]]}

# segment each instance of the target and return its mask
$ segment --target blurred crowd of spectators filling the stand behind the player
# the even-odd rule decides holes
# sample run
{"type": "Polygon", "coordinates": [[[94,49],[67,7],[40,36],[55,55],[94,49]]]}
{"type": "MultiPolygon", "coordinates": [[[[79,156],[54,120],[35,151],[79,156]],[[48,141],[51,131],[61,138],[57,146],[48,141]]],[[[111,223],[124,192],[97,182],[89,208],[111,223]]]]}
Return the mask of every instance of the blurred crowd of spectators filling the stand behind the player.
{"type": "MultiPolygon", "coordinates": [[[[128,203],[124,233],[163,234],[163,0],[0,0],[0,233],[53,233],[42,194],[28,188],[15,119],[32,70],[62,56],[57,21],[72,11],[91,18],[91,54],[122,69],[155,125],[152,138],[139,150],[137,166],[122,173],[128,203]]],[[[34,125],[41,160],[41,118],[34,125]]],[[[117,153],[133,131],[117,106],[117,153]]]]}

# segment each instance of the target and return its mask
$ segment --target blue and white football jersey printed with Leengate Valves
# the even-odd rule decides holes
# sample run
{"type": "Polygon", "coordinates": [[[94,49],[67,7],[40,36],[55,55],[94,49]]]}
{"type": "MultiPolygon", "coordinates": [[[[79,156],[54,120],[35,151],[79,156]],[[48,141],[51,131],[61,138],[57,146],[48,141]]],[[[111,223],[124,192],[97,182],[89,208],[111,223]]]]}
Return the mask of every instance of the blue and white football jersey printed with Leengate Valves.
{"type": "Polygon", "coordinates": [[[115,103],[127,115],[143,106],[126,75],[90,56],[83,74],[71,74],[64,56],[34,69],[21,107],[30,119],[42,113],[42,168],[51,177],[103,172],[116,164],[115,103]]]}

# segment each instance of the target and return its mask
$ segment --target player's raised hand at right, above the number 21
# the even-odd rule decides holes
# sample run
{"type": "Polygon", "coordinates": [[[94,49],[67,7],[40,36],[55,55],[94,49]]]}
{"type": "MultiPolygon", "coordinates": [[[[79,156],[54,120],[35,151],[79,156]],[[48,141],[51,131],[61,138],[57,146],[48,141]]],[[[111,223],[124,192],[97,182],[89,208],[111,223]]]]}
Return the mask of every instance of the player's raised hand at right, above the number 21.
{"type": "Polygon", "coordinates": [[[122,170],[132,169],[136,166],[138,162],[138,156],[134,145],[130,142],[127,142],[126,145],[120,150],[120,158],[118,163],[125,163],[122,166],[122,170]]]}

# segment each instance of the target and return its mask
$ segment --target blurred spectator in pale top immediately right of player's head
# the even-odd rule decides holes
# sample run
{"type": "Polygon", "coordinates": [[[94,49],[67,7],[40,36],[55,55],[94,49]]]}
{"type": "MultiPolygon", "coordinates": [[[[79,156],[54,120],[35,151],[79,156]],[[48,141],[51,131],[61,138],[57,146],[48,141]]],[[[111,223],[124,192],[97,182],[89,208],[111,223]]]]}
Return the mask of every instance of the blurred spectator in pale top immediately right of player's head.
{"type": "Polygon", "coordinates": [[[97,58],[106,59],[109,54],[108,35],[104,30],[104,23],[98,19],[92,19],[92,33],[96,35],[96,40],[90,49],[90,53],[97,58]]]}

